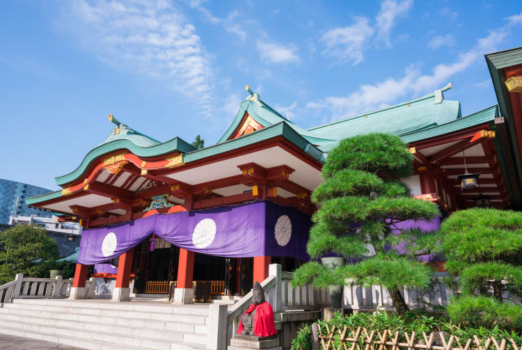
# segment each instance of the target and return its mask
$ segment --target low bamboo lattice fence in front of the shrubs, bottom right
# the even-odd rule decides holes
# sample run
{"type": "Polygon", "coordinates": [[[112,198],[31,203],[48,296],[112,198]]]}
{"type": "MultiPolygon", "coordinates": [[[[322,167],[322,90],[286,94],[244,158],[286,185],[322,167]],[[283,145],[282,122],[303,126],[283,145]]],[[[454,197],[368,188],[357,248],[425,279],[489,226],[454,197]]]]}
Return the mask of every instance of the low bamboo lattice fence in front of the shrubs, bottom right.
{"type": "Polygon", "coordinates": [[[496,340],[489,337],[480,340],[476,335],[472,339],[459,339],[444,332],[436,333],[400,333],[399,331],[376,331],[367,328],[326,329],[319,326],[320,347],[322,350],[522,350],[522,344],[516,344],[512,338],[496,340]]]}

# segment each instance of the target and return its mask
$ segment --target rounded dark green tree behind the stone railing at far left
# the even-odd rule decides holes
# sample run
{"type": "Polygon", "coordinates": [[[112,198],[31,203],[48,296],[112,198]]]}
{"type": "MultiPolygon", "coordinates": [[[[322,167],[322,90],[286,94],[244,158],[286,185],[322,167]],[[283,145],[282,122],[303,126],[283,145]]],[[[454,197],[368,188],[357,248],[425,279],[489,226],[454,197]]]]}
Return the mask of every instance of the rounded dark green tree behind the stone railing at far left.
{"type": "Polygon", "coordinates": [[[0,233],[0,285],[15,279],[17,273],[26,277],[44,277],[59,258],[54,239],[46,230],[17,225],[0,233]]]}

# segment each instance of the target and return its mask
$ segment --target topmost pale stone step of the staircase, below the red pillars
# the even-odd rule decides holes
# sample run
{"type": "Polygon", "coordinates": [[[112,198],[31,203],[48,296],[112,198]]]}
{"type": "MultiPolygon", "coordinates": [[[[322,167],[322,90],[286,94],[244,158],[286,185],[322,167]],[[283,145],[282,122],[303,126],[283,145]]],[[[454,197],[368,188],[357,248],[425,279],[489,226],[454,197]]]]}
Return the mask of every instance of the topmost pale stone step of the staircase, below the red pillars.
{"type": "Polygon", "coordinates": [[[52,305],[68,308],[84,308],[97,310],[113,310],[118,312],[155,312],[173,315],[208,316],[208,305],[173,305],[171,303],[154,303],[129,301],[69,301],[68,299],[15,299],[13,304],[52,305]]]}

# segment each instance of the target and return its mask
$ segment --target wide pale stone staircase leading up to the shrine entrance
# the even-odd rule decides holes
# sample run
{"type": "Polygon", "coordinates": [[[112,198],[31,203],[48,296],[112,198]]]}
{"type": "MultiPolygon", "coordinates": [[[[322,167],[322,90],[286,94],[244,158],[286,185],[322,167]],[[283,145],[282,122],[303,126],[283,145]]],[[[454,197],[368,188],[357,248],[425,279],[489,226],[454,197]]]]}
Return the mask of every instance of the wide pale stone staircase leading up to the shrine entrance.
{"type": "Polygon", "coordinates": [[[200,350],[208,305],[101,299],[15,299],[0,308],[0,333],[94,350],[200,350]]]}

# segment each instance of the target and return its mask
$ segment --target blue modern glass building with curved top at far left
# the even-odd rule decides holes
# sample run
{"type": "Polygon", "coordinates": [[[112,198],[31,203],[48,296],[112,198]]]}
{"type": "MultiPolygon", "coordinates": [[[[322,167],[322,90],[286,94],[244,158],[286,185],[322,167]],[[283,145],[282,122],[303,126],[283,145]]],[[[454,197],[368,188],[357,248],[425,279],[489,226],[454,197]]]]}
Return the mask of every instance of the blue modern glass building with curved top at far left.
{"type": "Polygon", "coordinates": [[[40,216],[50,218],[52,212],[45,209],[27,207],[25,199],[51,192],[50,189],[0,179],[0,223],[9,223],[9,216],[40,216]]]}

